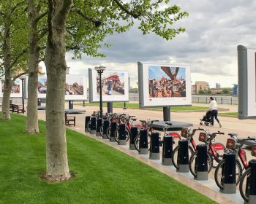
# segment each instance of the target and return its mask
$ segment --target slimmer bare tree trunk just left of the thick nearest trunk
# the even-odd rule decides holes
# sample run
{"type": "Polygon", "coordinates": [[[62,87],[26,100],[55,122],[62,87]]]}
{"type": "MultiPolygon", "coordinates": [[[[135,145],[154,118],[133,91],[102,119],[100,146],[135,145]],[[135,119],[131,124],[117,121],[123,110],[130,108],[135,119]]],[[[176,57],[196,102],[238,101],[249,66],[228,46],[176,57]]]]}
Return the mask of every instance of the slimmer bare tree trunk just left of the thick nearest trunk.
{"type": "Polygon", "coordinates": [[[37,113],[37,82],[39,41],[37,36],[37,12],[34,0],[29,0],[29,82],[28,82],[28,104],[26,118],[26,133],[39,133],[37,113]]]}

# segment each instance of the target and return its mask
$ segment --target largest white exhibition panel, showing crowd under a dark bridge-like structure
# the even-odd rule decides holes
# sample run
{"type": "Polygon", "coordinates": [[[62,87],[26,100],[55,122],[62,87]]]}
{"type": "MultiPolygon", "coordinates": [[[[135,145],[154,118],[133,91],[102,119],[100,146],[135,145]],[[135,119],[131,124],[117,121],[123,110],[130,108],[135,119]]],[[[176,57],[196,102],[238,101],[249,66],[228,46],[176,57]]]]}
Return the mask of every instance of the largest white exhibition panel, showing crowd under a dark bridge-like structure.
{"type": "Polygon", "coordinates": [[[191,105],[190,66],[138,62],[140,106],[191,105]]]}

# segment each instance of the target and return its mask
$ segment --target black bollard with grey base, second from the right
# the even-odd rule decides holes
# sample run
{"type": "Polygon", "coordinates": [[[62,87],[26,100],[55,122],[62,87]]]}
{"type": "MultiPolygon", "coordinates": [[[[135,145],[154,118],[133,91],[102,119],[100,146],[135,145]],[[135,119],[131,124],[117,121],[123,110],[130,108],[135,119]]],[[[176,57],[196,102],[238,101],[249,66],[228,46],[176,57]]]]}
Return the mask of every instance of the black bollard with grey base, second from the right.
{"type": "Polygon", "coordinates": [[[223,160],[223,189],[219,191],[227,194],[236,193],[236,153],[225,153],[223,160]]]}

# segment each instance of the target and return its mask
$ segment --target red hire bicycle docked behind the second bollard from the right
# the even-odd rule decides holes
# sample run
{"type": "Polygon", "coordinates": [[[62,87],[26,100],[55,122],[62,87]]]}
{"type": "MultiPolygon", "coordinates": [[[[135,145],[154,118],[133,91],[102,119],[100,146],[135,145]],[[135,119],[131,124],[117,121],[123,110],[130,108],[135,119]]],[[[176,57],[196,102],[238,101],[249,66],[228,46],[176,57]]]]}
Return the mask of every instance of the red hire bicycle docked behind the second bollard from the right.
{"type": "MultiPolygon", "coordinates": [[[[235,152],[238,156],[238,158],[240,159],[240,161],[238,159],[236,159],[236,185],[238,185],[243,170],[248,168],[248,163],[246,161],[246,152],[244,151],[244,149],[242,148],[242,146],[244,146],[244,143],[246,140],[249,139],[248,138],[244,138],[241,140],[241,143],[238,144],[238,138],[237,138],[237,134],[234,133],[229,133],[228,134],[231,138],[227,139],[227,144],[226,144],[226,152],[235,152]],[[242,165],[244,168],[242,168],[242,165]]],[[[217,166],[215,173],[214,173],[214,179],[216,181],[217,186],[220,189],[223,189],[223,175],[222,175],[222,170],[225,166],[225,160],[222,160],[221,162],[219,162],[219,165],[217,166]]]]}

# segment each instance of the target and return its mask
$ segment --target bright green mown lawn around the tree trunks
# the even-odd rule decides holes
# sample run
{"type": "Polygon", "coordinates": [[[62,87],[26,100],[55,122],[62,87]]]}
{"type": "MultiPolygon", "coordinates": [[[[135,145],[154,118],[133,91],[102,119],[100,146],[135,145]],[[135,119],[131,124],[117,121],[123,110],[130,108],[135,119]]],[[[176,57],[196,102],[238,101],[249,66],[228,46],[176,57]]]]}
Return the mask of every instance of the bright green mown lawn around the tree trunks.
{"type": "Polygon", "coordinates": [[[23,133],[26,117],[0,119],[0,203],[214,203],[208,197],[110,146],[67,129],[69,169],[62,183],[45,171],[45,122],[40,134],[23,133]]]}

